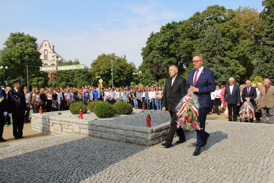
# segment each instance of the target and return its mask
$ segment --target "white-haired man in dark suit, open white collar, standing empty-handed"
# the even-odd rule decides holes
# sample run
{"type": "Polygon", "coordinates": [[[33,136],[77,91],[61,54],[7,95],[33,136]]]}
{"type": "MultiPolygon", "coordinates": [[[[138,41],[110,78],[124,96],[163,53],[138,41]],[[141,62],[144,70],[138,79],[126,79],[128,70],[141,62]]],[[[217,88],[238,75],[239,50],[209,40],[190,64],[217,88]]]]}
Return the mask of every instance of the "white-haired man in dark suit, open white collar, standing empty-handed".
{"type": "Polygon", "coordinates": [[[241,91],[237,84],[234,84],[234,78],[229,78],[229,85],[226,86],[223,99],[227,104],[228,109],[228,121],[232,121],[232,110],[233,110],[233,121],[237,121],[237,106],[241,103],[241,91]]]}

